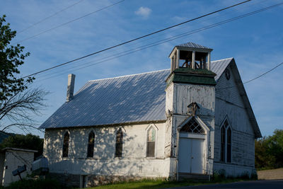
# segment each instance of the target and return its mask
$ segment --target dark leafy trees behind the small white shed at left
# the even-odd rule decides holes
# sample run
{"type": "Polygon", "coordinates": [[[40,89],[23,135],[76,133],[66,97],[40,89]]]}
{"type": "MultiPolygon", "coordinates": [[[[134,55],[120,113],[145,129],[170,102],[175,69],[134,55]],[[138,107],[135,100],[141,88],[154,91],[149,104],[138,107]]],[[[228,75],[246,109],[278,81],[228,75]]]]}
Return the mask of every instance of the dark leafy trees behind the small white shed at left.
{"type": "Polygon", "coordinates": [[[35,157],[37,157],[42,155],[43,139],[40,139],[40,137],[33,134],[15,134],[4,139],[4,141],[0,144],[0,149],[4,149],[6,147],[37,150],[38,152],[35,153],[35,157]]]}

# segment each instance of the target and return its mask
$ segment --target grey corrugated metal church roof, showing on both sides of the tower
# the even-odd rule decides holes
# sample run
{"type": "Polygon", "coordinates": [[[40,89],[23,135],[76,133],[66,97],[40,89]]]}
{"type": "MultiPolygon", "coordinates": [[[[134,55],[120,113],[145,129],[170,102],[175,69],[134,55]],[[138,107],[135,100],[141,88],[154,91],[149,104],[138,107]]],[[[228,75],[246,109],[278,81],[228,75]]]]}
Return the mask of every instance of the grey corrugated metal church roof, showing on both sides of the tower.
{"type": "MultiPolygon", "coordinates": [[[[230,59],[212,62],[219,79],[230,59]]],[[[88,81],[40,128],[112,125],[166,120],[166,82],[170,69],[88,81]]]]}

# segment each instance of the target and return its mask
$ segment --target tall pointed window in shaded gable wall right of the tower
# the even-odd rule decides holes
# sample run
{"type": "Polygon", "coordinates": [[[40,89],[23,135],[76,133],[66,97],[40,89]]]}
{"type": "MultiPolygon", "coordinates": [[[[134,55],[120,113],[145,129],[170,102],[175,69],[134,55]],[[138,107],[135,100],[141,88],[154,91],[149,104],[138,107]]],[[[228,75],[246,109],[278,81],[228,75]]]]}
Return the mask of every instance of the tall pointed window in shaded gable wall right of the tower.
{"type": "Polygon", "coordinates": [[[231,163],[232,157],[232,130],[226,119],[221,126],[221,149],[220,149],[220,160],[231,163]]]}

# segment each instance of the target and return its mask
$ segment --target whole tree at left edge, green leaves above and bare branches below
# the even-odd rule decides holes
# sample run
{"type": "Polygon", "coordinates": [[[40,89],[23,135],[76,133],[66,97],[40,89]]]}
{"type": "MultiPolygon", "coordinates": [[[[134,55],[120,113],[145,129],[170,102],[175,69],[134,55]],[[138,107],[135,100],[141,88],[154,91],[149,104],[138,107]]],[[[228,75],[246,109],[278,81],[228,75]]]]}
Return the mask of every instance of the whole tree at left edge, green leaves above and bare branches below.
{"type": "Polygon", "coordinates": [[[0,130],[11,127],[27,130],[35,127],[30,113],[40,113],[47,92],[40,88],[28,88],[35,78],[23,79],[19,75],[18,67],[30,53],[23,53],[24,47],[19,44],[10,45],[16,31],[11,30],[5,17],[0,17],[0,130]]]}

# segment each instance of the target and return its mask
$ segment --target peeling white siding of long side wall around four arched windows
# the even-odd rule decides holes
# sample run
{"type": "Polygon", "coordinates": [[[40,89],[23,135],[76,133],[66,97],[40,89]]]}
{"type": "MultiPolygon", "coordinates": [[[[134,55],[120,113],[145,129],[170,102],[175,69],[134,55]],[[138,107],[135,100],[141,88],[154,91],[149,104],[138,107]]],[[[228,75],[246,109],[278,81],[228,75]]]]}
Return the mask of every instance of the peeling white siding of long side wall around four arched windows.
{"type": "Polygon", "coordinates": [[[168,177],[171,160],[165,159],[165,123],[126,125],[123,131],[122,158],[115,157],[115,133],[119,127],[70,128],[46,130],[44,154],[50,172],[76,175],[117,175],[168,177]],[[156,128],[156,156],[146,157],[146,129],[156,128]],[[70,134],[69,156],[62,158],[63,136],[70,134]],[[94,157],[87,158],[88,134],[95,137],[94,157]]]}

